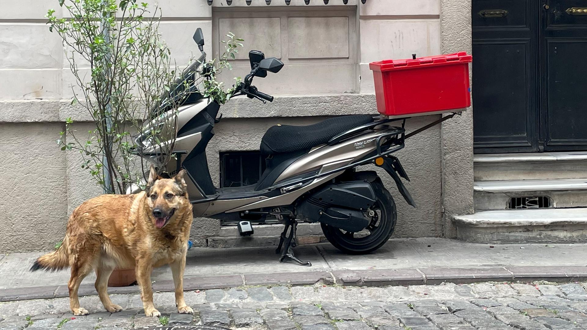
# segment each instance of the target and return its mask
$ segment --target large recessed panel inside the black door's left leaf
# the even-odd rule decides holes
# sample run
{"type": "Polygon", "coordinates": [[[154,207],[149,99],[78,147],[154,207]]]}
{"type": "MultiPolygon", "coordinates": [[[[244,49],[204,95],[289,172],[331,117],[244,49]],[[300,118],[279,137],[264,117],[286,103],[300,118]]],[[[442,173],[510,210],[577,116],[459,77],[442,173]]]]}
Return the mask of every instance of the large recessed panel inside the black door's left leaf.
{"type": "Polygon", "coordinates": [[[475,146],[531,147],[529,43],[529,39],[475,41],[475,146]]]}

